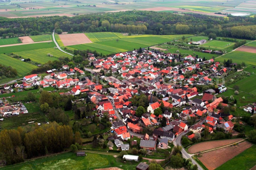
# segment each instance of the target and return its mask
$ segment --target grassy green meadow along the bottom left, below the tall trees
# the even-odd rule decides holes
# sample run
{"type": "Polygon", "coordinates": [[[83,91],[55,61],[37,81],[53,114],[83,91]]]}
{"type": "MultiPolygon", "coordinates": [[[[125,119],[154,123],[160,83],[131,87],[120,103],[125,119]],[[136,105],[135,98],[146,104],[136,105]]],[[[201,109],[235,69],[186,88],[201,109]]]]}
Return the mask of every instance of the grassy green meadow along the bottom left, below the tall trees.
{"type": "MultiPolygon", "coordinates": [[[[1,169],[95,169],[106,167],[122,167],[122,169],[135,169],[138,162],[127,161],[121,163],[120,158],[113,155],[103,155],[96,153],[88,153],[87,156],[76,156],[75,153],[68,152],[57,156],[50,156],[42,159],[36,159],[19,163],[15,165],[5,166],[1,169]]],[[[147,161],[145,161],[147,162],[147,161]]]]}

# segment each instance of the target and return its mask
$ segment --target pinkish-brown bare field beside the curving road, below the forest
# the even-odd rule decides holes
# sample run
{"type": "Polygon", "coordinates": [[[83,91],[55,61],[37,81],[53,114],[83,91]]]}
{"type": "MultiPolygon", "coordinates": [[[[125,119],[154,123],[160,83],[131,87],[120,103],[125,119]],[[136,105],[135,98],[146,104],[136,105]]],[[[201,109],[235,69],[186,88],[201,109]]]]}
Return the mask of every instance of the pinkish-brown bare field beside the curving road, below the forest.
{"type": "Polygon", "coordinates": [[[78,34],[60,34],[64,46],[92,43],[92,41],[83,33],[78,34]]]}

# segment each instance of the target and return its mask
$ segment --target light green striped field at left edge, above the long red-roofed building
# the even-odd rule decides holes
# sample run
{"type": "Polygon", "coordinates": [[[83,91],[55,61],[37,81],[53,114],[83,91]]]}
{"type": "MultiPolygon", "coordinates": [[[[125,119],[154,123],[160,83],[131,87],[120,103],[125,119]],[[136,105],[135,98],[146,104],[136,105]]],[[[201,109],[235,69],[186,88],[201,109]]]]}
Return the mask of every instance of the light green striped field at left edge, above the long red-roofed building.
{"type": "Polygon", "coordinates": [[[12,58],[5,54],[0,54],[1,64],[15,68],[19,75],[28,74],[33,68],[37,66],[21,61],[20,59],[12,58]]]}

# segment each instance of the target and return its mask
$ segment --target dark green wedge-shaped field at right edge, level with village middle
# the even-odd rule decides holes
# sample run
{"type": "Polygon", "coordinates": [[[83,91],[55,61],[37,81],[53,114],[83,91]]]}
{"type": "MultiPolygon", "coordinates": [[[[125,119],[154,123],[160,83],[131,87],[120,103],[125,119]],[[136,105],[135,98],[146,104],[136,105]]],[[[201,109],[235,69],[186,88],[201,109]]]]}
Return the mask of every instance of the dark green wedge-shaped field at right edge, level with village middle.
{"type": "MultiPolygon", "coordinates": [[[[250,77],[246,77],[242,80],[239,80],[238,82],[232,84],[229,87],[233,88],[234,85],[237,85],[237,86],[239,86],[239,90],[256,95],[255,81],[256,81],[256,74],[252,74],[250,77]]],[[[255,96],[255,98],[256,98],[256,96],[255,96]]]]}

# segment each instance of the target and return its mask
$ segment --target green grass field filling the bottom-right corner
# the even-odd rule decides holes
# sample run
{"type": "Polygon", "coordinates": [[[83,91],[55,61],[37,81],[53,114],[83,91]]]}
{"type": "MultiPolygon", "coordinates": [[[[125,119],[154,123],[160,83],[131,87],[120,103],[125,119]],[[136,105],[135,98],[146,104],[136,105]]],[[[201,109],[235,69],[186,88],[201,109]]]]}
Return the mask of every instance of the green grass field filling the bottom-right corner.
{"type": "Polygon", "coordinates": [[[256,164],[256,146],[253,145],[252,147],[246,149],[242,153],[238,154],[237,156],[233,157],[228,162],[222,164],[216,170],[246,170],[252,168],[256,164]]]}

